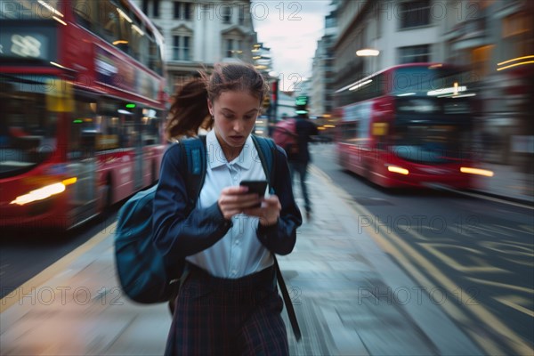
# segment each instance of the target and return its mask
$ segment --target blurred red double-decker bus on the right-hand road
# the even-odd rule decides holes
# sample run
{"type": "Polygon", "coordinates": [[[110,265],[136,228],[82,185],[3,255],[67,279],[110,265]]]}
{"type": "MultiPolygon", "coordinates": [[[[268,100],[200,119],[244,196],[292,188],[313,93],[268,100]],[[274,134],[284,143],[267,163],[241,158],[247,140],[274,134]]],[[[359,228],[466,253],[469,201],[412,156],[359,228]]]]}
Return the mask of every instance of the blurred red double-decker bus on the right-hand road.
{"type": "Polygon", "coordinates": [[[469,73],[441,63],[381,70],[336,91],[344,169],[386,188],[472,189],[475,93],[469,73]]]}

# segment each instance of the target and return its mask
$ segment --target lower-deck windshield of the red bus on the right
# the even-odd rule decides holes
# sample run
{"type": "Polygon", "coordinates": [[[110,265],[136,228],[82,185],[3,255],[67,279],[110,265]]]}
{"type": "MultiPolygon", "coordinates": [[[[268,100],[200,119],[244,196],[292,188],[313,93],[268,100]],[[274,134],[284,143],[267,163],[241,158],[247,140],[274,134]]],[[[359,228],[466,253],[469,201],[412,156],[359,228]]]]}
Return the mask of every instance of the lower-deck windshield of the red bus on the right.
{"type": "Polygon", "coordinates": [[[411,162],[453,163],[465,159],[467,131],[459,125],[396,125],[392,151],[411,162]]]}

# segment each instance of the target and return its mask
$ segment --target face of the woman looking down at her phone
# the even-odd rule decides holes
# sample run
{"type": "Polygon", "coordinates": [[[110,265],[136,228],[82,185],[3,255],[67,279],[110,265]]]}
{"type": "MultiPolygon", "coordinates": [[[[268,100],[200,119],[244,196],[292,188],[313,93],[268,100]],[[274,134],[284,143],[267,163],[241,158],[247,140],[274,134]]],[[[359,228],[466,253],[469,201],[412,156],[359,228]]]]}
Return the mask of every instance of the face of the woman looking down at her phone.
{"type": "Polygon", "coordinates": [[[242,147],[260,113],[260,100],[247,92],[223,92],[207,105],[219,142],[231,148],[242,147]]]}

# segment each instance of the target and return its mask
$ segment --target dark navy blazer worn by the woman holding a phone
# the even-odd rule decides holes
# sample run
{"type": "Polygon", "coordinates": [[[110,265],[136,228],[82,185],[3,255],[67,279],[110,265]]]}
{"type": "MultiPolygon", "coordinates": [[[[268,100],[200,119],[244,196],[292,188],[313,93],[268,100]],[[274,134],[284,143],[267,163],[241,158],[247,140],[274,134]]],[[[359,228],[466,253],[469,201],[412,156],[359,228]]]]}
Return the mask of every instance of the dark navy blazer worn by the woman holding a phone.
{"type": "MultiPolygon", "coordinates": [[[[275,177],[272,186],[282,209],[278,223],[269,227],[258,224],[256,235],[271,253],[287,255],[295,247],[296,229],[303,220],[293,196],[286,153],[279,147],[274,153],[275,177]]],[[[206,208],[195,207],[187,215],[186,174],[181,162],[180,146],[171,145],[163,157],[154,198],[153,239],[167,265],[177,258],[195,255],[213,246],[231,228],[231,221],[224,219],[216,202],[206,208]]]]}

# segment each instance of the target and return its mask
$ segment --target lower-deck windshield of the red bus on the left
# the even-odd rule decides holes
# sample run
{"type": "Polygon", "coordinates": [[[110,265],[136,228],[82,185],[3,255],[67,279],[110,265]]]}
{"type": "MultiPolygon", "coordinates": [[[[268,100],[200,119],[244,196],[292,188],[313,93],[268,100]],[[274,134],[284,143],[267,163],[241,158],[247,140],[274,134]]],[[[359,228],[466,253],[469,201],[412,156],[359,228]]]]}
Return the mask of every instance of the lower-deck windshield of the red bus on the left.
{"type": "Polygon", "coordinates": [[[57,113],[46,107],[52,79],[0,75],[0,177],[26,172],[55,150],[57,113]]]}

